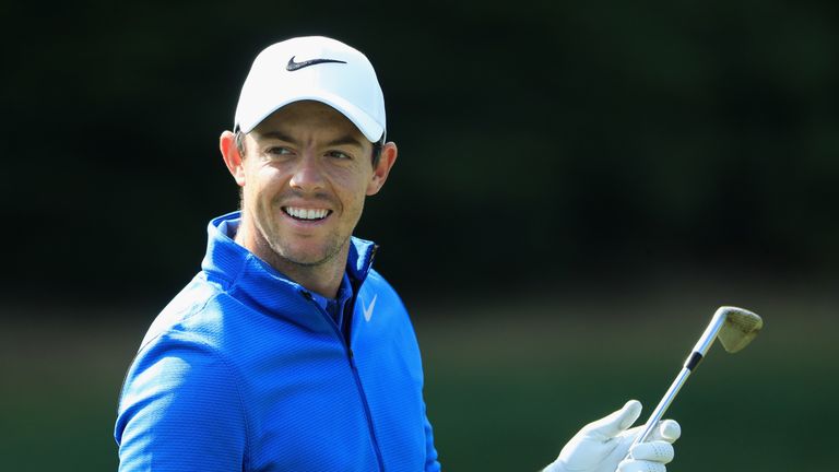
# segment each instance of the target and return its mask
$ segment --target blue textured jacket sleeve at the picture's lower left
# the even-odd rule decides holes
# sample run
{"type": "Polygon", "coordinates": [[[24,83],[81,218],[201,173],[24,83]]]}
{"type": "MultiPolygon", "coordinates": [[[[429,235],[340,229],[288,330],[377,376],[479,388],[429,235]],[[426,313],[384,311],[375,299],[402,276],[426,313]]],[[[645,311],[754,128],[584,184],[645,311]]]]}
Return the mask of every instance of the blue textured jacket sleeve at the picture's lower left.
{"type": "Polygon", "coordinates": [[[241,471],[247,424],[233,370],[200,342],[153,341],[126,377],[115,439],[121,472],[241,471]]]}

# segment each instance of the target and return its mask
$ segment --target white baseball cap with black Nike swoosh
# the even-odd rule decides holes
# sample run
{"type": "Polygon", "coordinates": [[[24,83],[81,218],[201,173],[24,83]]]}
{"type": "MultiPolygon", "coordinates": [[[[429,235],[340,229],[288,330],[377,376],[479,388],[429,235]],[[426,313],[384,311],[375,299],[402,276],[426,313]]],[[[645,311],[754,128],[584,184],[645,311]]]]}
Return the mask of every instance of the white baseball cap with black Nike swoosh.
{"type": "Polygon", "coordinates": [[[358,50],[322,36],[287,39],[257,56],[241,87],[234,129],[248,133],[299,101],[341,111],[370,142],[385,138],[385,97],[373,64],[358,50]]]}

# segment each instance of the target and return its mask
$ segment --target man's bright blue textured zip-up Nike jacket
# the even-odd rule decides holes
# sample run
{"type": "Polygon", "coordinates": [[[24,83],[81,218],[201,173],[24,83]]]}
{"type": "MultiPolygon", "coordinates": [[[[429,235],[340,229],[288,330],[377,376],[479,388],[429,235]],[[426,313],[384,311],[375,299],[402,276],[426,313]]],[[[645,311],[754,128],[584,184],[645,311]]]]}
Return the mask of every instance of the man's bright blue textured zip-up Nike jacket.
{"type": "Polygon", "coordinates": [[[370,269],[375,246],[352,241],[347,343],[304,287],[232,240],[238,219],[210,223],[202,271],[128,371],[120,471],[439,471],[416,337],[370,269]]]}

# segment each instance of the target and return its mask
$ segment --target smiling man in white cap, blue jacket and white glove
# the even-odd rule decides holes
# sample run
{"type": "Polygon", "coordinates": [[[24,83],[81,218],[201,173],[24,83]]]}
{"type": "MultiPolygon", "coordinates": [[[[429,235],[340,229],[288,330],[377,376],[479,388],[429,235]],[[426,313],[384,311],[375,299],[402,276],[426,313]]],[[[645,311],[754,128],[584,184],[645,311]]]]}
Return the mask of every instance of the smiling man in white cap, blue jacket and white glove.
{"type": "MultiPolygon", "coordinates": [[[[352,236],[397,160],[385,135],[359,51],[303,37],[257,57],[220,140],[241,211],[210,223],[201,272],[128,371],[120,470],[440,470],[410,319],[352,236]]],[[[587,426],[548,470],[614,471],[639,411],[587,426]]],[[[664,470],[662,425],[623,471],[664,470]]]]}

